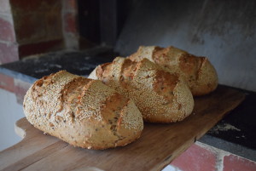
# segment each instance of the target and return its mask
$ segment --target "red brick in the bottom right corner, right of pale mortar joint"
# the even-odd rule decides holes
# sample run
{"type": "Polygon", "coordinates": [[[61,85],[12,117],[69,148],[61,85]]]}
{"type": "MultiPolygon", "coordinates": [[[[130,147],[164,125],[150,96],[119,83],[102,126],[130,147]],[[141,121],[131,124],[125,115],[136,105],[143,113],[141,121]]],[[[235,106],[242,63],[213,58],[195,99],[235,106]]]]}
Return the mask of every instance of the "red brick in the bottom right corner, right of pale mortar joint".
{"type": "Polygon", "coordinates": [[[235,155],[224,157],[224,171],[255,171],[256,162],[235,155]]]}

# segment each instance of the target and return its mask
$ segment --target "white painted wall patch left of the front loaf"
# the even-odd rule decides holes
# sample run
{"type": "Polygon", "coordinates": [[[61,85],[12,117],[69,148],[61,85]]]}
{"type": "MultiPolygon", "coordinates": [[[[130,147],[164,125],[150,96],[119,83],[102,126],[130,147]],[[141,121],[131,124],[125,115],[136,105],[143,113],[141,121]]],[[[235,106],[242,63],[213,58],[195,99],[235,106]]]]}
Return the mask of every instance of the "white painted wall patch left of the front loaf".
{"type": "Polygon", "coordinates": [[[15,134],[15,122],[24,117],[16,96],[0,88],[0,151],[15,145],[21,138],[15,134]]]}

